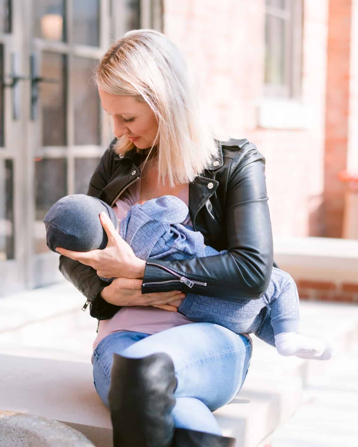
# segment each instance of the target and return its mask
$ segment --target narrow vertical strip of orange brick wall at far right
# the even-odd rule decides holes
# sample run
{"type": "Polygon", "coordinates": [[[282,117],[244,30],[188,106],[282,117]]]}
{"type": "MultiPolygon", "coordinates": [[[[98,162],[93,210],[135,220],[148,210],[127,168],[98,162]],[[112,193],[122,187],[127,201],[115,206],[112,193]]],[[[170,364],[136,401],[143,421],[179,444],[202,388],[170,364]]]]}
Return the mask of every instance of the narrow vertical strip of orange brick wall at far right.
{"type": "Polygon", "coordinates": [[[330,0],[324,181],[325,236],[341,237],[347,166],[351,0],[330,0]]]}

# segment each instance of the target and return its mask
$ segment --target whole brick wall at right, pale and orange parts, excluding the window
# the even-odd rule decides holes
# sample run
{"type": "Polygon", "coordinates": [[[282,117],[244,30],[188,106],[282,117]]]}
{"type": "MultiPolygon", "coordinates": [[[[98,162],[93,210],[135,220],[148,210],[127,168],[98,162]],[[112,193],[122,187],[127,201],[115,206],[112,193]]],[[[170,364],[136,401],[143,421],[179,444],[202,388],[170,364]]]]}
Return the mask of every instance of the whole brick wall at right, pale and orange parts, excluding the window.
{"type": "MultiPolygon", "coordinates": [[[[217,128],[248,138],[266,157],[274,236],[341,237],[346,186],[337,173],[346,167],[347,146],[358,169],[358,0],[304,0],[303,6],[302,102],[309,119],[298,130],[258,125],[264,0],[164,0],[164,31],[197,73],[217,128]]],[[[302,299],[358,303],[358,282],[299,274],[295,280],[302,299]]]]}

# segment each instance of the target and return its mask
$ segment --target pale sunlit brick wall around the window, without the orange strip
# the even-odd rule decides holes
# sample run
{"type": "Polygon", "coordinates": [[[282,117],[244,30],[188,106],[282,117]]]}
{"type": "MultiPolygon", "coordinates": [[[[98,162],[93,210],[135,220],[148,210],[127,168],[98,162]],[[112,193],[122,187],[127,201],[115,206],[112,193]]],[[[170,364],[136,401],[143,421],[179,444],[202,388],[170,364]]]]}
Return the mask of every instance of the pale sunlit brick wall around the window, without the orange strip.
{"type": "Polygon", "coordinates": [[[311,119],[298,131],[258,128],[264,6],[264,0],[165,0],[164,31],[198,74],[218,128],[253,141],[266,157],[274,234],[323,236],[328,0],[304,1],[302,99],[311,119]]]}

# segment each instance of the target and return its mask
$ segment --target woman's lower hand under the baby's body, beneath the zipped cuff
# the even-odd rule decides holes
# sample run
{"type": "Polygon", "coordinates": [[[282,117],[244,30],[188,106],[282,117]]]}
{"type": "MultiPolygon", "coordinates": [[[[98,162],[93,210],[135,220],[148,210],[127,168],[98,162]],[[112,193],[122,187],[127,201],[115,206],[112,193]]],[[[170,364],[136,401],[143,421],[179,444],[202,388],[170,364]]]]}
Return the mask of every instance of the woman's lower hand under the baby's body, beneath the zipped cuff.
{"type": "Polygon", "coordinates": [[[101,296],[107,303],[115,304],[115,306],[159,307],[164,305],[167,307],[161,308],[174,312],[178,310],[181,300],[185,298],[185,294],[178,290],[142,295],[141,287],[141,279],[116,278],[102,290],[101,296]]]}

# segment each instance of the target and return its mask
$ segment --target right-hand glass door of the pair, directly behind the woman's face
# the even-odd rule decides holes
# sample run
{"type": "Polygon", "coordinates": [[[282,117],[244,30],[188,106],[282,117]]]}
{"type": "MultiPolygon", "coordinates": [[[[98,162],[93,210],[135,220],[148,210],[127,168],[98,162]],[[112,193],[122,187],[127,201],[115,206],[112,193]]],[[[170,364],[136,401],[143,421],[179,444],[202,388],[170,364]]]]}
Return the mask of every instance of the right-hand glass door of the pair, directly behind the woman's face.
{"type": "Polygon", "coordinates": [[[46,245],[43,218],[61,197],[86,193],[110,138],[109,126],[101,126],[106,118],[91,79],[109,43],[109,2],[33,0],[29,14],[32,85],[27,144],[34,179],[29,276],[30,287],[39,287],[62,278],[58,255],[46,245]]]}

